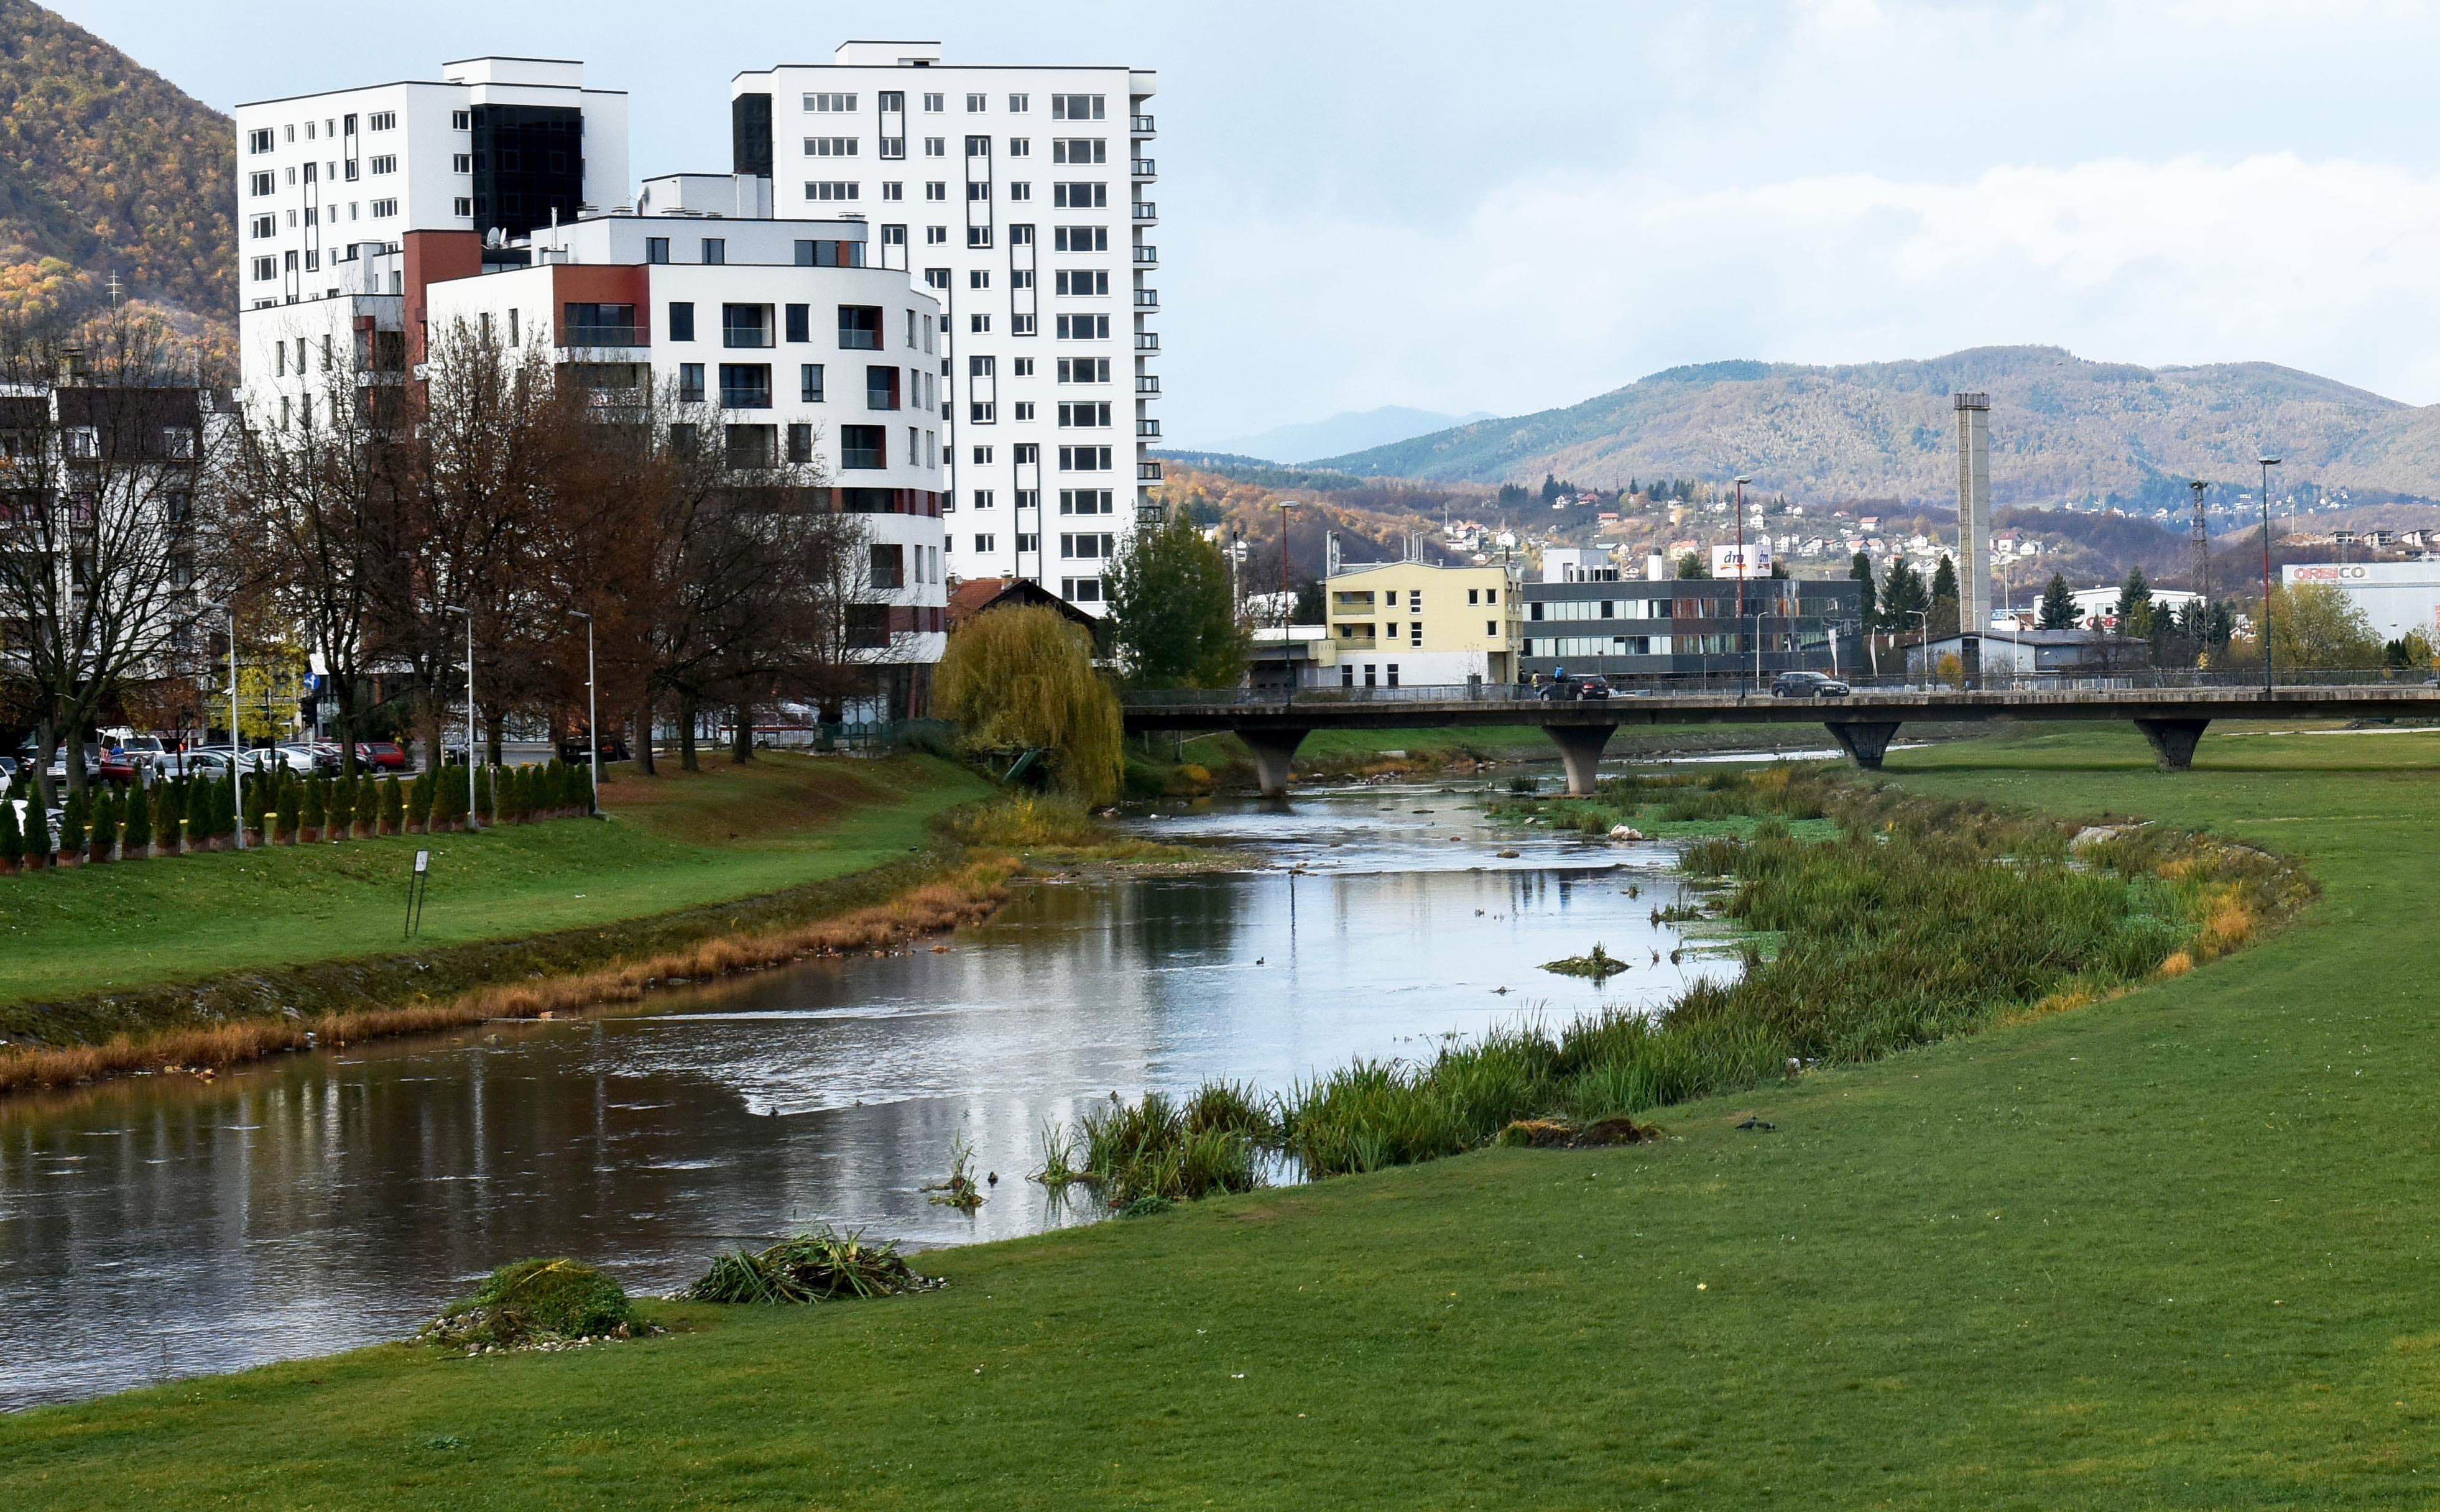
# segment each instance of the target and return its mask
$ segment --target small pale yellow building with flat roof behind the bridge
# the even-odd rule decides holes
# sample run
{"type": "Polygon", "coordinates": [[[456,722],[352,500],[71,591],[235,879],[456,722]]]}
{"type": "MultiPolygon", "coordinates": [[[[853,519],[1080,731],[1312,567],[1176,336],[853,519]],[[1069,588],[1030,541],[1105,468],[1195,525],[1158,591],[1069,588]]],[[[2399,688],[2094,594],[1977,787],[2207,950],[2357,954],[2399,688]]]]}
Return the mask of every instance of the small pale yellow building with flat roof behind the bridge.
{"type": "Polygon", "coordinates": [[[1340,688],[1515,680],[1523,617],[1505,566],[1383,561],[1322,588],[1340,688]]]}

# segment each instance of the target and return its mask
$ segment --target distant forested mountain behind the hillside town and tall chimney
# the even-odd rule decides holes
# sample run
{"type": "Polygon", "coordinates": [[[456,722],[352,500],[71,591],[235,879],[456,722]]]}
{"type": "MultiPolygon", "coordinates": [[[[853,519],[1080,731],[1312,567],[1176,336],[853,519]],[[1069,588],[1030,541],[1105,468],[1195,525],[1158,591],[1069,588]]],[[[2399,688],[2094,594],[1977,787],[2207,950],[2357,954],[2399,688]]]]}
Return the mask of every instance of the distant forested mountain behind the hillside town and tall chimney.
{"type": "Polygon", "coordinates": [[[1940,502],[1957,495],[1950,395],[1991,395],[1998,502],[2179,500],[2242,483],[2262,446],[2289,480],[2440,500],[2440,407],[2279,368],[2140,368],[2057,346],[1930,361],[1728,361],[1669,368],[1566,410],[1484,419],[1320,466],[1396,478],[1584,488],[1749,473],[1764,493],[1940,502]]]}

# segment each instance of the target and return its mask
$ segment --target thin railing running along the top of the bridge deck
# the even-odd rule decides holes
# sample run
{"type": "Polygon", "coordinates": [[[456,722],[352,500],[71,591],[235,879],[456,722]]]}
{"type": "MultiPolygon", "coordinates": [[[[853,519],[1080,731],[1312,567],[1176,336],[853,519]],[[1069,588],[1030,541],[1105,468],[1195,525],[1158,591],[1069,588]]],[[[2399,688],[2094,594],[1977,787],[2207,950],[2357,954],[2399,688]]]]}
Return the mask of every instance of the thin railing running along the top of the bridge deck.
{"type": "MultiPolygon", "coordinates": [[[[2257,690],[2262,688],[2259,671],[2242,668],[2125,668],[2125,671],[2076,671],[2076,673],[1984,673],[1972,688],[1959,688],[1945,678],[1928,678],[1923,673],[1884,673],[1884,676],[1845,676],[1837,678],[1847,683],[1854,693],[1928,693],[1928,695],[1974,695],[1974,693],[2140,693],[2140,690],[2181,690],[2181,688],[2225,688],[2225,690],[2257,690]]],[[[1574,685],[1576,680],[1571,680],[1574,685]]],[[[1654,676],[1610,676],[1603,678],[1610,697],[1771,697],[1771,676],[1752,678],[1735,673],[1654,673],[1654,676]]],[[[1398,705],[1398,702],[1481,702],[1481,705],[1527,705],[1527,702],[1559,702],[1566,700],[1569,688],[1532,688],[1525,683],[1408,683],[1401,688],[1298,688],[1291,702],[1301,705],[1398,705]]],[[[2298,668],[2279,671],[2277,688],[2306,690],[2306,688],[2440,688],[2425,668],[2298,668]]],[[[1276,688],[1144,688],[1120,695],[1127,707],[1137,710],[1164,710],[1164,707],[1213,707],[1213,705],[1259,705],[1276,707],[1281,693],[1276,688]]],[[[1837,702],[1837,700],[1820,700],[1837,702]]]]}

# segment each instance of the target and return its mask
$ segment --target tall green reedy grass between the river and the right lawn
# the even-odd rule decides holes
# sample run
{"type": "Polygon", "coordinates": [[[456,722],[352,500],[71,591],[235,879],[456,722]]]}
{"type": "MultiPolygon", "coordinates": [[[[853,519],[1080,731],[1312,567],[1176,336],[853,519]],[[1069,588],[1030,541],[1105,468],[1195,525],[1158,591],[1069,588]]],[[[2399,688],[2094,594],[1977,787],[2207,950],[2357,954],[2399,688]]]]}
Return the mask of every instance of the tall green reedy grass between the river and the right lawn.
{"type": "MultiPolygon", "coordinates": [[[[1789,768],[1625,778],[1586,807],[1606,827],[1620,805],[1654,800],[1674,817],[1759,819],[1745,839],[1688,846],[1684,866],[1723,880],[1723,915],[1781,934],[1776,956],[1747,951],[1737,980],[1688,988],[1659,1015],[1606,1010],[1559,1032],[1493,1029],[1427,1061],[1357,1061],[1296,1085],[1276,1122],[1261,1110],[1227,1127],[1308,1178],[1435,1161],[1523,1119],[1593,1124],[2094,1002],[2225,954],[2311,895],[2298,868],[2206,834],[2140,827],[2076,851],[2074,824],[1789,768]],[[1835,839],[1789,832],[1820,817],[1835,839]]],[[[1240,1168],[1232,1149],[1232,1180],[1196,1180],[1191,1112],[1205,1105],[1259,1107],[1242,1088],[1205,1088],[1186,1105],[1147,1093],[1088,1114],[1105,1195],[1198,1197],[1242,1190],[1240,1171],[1259,1178],[1259,1158],[1240,1168]]]]}

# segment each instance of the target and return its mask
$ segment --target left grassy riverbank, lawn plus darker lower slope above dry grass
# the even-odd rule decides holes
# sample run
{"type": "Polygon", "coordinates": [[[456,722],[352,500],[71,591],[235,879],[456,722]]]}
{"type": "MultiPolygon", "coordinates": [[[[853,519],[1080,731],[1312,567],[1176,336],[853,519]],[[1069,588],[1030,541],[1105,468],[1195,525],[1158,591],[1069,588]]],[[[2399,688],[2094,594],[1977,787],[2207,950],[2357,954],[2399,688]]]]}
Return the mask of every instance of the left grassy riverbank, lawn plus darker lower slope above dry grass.
{"type": "Polygon", "coordinates": [[[932,758],[771,756],[608,783],[608,822],[0,878],[0,1039],[422,1002],[871,907],[932,878],[932,822],[983,793],[932,758]],[[425,846],[429,900],[407,941],[425,846]]]}

